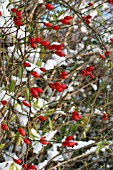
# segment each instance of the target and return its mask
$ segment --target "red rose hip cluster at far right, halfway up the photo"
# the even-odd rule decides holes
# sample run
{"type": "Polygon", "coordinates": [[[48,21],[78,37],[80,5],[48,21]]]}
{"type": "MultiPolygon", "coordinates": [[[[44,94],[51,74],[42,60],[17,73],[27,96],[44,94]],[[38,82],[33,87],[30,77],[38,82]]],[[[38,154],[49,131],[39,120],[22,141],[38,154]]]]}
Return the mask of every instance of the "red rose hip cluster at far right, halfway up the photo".
{"type": "Polygon", "coordinates": [[[92,74],[92,71],[94,70],[94,67],[93,66],[89,66],[87,67],[85,70],[82,70],[81,71],[81,74],[83,76],[89,76],[91,77],[92,79],[94,79],[94,75],[92,74]]]}

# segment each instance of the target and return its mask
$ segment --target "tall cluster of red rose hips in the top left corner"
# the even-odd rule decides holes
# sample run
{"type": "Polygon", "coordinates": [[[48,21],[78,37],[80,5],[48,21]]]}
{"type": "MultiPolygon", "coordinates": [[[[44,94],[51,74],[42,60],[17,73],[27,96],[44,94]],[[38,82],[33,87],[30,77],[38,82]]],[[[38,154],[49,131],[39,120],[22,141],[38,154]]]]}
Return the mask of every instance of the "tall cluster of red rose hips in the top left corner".
{"type": "Polygon", "coordinates": [[[17,10],[16,8],[12,8],[11,12],[15,13],[15,16],[13,18],[13,21],[14,21],[15,25],[18,26],[18,27],[23,25],[21,11],[17,10]]]}

